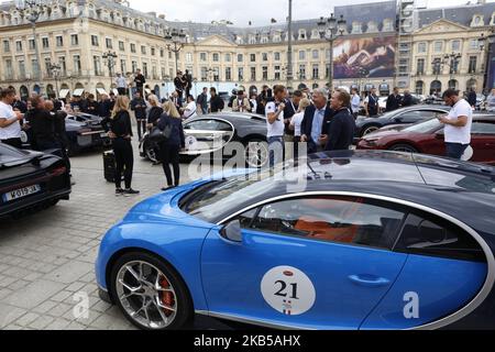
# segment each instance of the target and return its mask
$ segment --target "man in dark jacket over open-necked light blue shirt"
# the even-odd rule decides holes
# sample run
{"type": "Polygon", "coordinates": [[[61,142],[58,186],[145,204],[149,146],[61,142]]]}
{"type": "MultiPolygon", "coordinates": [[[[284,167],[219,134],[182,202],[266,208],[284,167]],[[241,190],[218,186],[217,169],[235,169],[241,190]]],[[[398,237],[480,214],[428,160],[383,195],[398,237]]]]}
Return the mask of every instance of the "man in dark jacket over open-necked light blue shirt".
{"type": "Polygon", "coordinates": [[[302,143],[308,143],[308,153],[317,153],[323,150],[323,131],[328,130],[331,123],[333,111],[327,106],[327,90],[324,88],[315,89],[312,92],[314,105],[305,111],[301,123],[302,143]]]}

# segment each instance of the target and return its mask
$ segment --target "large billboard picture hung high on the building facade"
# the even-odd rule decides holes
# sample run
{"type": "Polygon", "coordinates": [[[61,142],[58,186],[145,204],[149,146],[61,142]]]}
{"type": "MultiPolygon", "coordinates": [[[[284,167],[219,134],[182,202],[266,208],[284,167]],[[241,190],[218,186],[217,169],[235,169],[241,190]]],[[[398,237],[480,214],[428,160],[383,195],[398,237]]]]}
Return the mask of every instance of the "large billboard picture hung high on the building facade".
{"type": "Polygon", "coordinates": [[[333,46],[336,79],[395,76],[396,36],[339,38],[333,46]]]}

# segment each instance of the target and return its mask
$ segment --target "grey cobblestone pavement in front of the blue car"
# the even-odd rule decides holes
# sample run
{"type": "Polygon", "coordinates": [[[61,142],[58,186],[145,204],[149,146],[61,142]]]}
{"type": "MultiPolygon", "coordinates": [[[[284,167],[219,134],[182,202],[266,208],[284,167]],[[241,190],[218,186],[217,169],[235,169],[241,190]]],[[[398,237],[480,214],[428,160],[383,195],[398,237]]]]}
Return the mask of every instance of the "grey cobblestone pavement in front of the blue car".
{"type": "Polygon", "coordinates": [[[132,329],[117,307],[98,298],[94,265],[106,231],[165,185],[162,167],[141,160],[136,145],[134,153],[133,187],[141,195],[116,198],[103,179],[101,152],[94,151],[72,160],[77,185],[69,201],[1,220],[0,329],[132,329]],[[76,318],[80,294],[89,297],[89,316],[76,318]]]}

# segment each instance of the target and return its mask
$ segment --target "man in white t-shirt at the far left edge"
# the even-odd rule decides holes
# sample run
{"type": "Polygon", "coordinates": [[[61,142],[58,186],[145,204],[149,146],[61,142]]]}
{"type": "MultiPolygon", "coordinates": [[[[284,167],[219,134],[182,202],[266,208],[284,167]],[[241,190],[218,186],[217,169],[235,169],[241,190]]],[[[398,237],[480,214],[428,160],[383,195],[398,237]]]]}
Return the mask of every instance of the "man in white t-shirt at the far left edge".
{"type": "Polygon", "coordinates": [[[21,124],[24,116],[20,111],[12,109],[15,101],[15,91],[13,89],[3,89],[0,92],[0,141],[2,143],[20,148],[21,124]]]}

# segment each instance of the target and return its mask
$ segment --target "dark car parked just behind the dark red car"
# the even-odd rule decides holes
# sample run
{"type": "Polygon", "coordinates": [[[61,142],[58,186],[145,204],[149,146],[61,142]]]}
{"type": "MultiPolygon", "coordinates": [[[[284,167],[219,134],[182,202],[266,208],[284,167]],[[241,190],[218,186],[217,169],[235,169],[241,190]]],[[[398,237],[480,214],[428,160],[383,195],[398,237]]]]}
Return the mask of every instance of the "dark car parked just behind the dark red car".
{"type": "Polygon", "coordinates": [[[419,121],[437,118],[447,114],[450,108],[446,106],[413,106],[386,112],[377,118],[358,118],[355,139],[375,132],[383,127],[392,124],[413,124],[419,121]]]}

